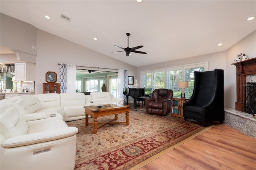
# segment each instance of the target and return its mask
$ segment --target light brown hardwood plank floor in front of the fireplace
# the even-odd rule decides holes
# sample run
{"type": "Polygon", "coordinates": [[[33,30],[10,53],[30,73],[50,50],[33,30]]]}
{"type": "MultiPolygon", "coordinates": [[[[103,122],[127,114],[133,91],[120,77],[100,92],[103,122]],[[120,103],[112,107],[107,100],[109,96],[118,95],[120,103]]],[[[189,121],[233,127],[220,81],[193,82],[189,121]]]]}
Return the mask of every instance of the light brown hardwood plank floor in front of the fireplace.
{"type": "Polygon", "coordinates": [[[256,170],[256,139],[218,122],[213,125],[139,170],[256,170]]]}

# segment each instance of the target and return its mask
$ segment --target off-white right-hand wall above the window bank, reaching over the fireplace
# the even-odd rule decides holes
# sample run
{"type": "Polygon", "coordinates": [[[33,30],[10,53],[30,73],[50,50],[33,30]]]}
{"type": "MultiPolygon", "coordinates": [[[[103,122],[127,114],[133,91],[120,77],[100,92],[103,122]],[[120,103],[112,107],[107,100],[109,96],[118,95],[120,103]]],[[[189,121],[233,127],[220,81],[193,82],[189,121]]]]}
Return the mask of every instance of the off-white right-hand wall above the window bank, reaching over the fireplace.
{"type": "Polygon", "coordinates": [[[226,51],[138,67],[137,77],[140,77],[140,71],[208,61],[208,71],[214,70],[215,68],[224,69],[224,106],[235,109],[236,66],[231,64],[234,63],[234,59],[236,59],[238,53],[245,53],[249,58],[256,57],[256,31],[226,51]]]}

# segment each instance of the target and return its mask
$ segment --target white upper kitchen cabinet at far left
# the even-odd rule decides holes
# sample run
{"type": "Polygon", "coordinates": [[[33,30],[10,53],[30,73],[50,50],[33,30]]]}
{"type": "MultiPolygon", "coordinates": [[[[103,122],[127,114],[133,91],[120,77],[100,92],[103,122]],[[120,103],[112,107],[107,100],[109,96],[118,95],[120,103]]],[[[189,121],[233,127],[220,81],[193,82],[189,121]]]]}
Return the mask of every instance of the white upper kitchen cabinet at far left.
{"type": "Polygon", "coordinates": [[[34,63],[15,63],[16,81],[34,81],[34,63]]]}

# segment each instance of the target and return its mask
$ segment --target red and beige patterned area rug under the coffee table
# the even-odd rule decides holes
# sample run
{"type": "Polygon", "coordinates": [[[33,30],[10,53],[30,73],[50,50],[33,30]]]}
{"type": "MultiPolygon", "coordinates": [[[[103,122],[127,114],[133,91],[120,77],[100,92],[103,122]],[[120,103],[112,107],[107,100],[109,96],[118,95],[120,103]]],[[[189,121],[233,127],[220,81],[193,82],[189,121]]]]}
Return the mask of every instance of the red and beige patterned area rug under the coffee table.
{"type": "MultiPolygon", "coordinates": [[[[98,122],[113,118],[101,117],[98,122]]],[[[125,114],[119,114],[118,121],[125,122],[125,114]]],[[[96,134],[92,134],[92,125],[84,127],[84,119],[67,124],[79,129],[74,170],[138,169],[212,127],[170,115],[149,115],[145,110],[132,108],[130,125],[106,125],[96,134]]]]}

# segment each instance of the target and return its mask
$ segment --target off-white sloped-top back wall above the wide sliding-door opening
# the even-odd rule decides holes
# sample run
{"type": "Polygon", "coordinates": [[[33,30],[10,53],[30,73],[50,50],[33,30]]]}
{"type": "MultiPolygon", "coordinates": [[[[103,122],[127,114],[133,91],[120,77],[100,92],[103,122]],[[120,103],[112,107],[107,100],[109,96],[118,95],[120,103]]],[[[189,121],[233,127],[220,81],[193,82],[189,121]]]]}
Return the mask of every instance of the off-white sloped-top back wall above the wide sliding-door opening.
{"type": "Polygon", "coordinates": [[[87,67],[102,67],[110,69],[127,69],[128,75],[135,76],[136,67],[113,59],[76,43],[70,42],[53,34],[38,30],[37,57],[35,73],[35,93],[43,93],[45,73],[57,73],[60,81],[60,66],[58,63],[74,64],[87,67]],[[42,81],[40,81],[40,78],[42,81]]]}

